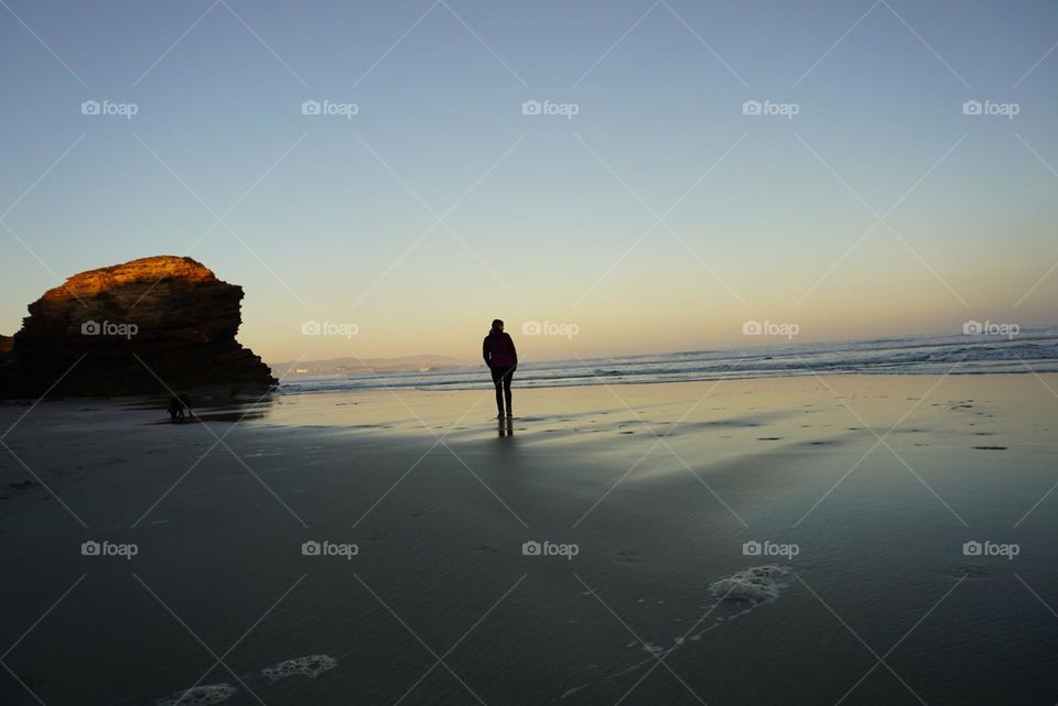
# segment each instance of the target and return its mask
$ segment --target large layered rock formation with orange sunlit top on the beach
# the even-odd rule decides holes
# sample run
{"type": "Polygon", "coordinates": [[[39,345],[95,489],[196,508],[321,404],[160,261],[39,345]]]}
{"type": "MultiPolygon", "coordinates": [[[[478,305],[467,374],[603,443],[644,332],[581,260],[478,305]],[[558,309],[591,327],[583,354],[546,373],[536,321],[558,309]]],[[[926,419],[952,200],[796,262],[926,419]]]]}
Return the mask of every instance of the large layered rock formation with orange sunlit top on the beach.
{"type": "Polygon", "coordinates": [[[241,300],[191,258],[75,274],[0,340],[0,398],[262,392],[277,381],[235,340],[241,300]]]}

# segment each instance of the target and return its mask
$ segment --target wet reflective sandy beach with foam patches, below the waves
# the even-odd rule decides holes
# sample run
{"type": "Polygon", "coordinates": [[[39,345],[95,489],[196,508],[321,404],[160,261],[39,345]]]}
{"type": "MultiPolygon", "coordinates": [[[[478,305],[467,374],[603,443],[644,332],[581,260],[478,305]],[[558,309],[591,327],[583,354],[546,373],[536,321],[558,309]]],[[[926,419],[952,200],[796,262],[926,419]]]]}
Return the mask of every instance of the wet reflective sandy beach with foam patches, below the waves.
{"type": "Polygon", "coordinates": [[[0,700],[1051,704],[1056,390],[6,404],[0,700]]]}

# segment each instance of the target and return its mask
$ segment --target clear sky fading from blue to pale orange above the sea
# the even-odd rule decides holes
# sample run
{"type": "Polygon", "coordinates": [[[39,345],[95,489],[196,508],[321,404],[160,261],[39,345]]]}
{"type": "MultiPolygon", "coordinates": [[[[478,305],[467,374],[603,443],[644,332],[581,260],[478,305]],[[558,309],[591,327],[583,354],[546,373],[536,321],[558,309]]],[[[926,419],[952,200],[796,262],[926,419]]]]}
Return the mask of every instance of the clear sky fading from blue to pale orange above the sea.
{"type": "Polygon", "coordinates": [[[153,254],[271,361],[1058,323],[1054,2],[0,4],[0,333],[153,254]]]}

